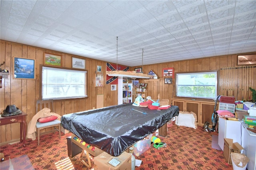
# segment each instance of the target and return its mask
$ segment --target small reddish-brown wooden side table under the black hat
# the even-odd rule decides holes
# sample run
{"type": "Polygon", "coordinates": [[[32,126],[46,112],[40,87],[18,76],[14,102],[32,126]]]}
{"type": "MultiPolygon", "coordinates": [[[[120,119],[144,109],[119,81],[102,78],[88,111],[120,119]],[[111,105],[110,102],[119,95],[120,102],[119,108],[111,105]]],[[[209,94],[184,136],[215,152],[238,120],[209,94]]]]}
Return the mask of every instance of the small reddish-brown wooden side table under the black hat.
{"type": "Polygon", "coordinates": [[[2,117],[0,116],[0,125],[8,125],[11,123],[20,123],[20,142],[23,142],[23,147],[26,147],[25,140],[27,134],[27,114],[22,112],[19,115],[2,117]],[[22,135],[23,134],[23,135],[22,135]],[[23,137],[23,138],[22,138],[23,137]]]}

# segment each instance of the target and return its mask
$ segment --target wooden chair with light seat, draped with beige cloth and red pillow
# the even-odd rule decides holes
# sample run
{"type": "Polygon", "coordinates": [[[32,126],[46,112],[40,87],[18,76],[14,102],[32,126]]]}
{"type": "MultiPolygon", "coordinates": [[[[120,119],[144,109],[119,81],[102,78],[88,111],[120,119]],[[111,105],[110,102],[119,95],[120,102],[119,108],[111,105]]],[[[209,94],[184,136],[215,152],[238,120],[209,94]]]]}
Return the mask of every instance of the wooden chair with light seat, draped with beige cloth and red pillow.
{"type": "MultiPolygon", "coordinates": [[[[44,101],[38,100],[36,102],[36,113],[45,107],[51,109],[51,111],[53,112],[53,101],[52,100],[44,100],[44,101]]],[[[46,122],[46,123],[40,123],[37,121],[36,129],[37,129],[36,131],[37,131],[37,138],[38,138],[38,146],[40,143],[40,134],[46,134],[46,133],[55,132],[55,130],[58,130],[59,138],[60,138],[60,121],[57,119],[54,121],[46,122]],[[56,127],[58,127],[58,129],[56,127]],[[50,131],[40,132],[40,130],[43,130],[45,128],[54,128],[54,129],[50,130],[50,131]]]]}

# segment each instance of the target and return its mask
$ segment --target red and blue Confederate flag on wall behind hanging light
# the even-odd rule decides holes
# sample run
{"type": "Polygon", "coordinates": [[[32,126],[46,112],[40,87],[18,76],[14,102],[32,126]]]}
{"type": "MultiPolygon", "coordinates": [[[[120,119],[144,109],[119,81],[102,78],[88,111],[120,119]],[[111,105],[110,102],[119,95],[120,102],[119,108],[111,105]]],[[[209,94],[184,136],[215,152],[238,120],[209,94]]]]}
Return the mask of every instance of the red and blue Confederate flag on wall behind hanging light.
{"type": "MultiPolygon", "coordinates": [[[[116,64],[106,63],[106,71],[116,71],[116,64]]],[[[117,70],[128,71],[129,67],[118,65],[117,70]]],[[[106,84],[117,85],[118,77],[106,75],[106,84]]]]}

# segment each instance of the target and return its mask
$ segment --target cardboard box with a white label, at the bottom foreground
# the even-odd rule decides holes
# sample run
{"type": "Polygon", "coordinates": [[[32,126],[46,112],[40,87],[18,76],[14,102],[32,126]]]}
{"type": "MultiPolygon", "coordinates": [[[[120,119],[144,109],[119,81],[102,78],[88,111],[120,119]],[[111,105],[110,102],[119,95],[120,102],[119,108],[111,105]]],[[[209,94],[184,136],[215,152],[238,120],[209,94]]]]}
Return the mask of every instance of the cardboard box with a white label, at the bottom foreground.
{"type": "Polygon", "coordinates": [[[131,170],[131,157],[132,155],[127,152],[123,152],[119,156],[111,156],[102,152],[94,157],[94,170],[131,170]]]}

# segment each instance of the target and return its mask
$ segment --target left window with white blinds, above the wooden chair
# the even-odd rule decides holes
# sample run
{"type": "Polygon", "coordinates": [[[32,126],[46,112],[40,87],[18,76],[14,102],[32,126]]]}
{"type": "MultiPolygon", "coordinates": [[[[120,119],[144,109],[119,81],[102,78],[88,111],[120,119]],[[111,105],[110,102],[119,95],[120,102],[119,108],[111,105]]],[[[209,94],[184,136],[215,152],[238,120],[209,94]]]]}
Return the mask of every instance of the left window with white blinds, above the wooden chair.
{"type": "Polygon", "coordinates": [[[87,97],[87,71],[42,67],[42,100],[87,97]]]}

